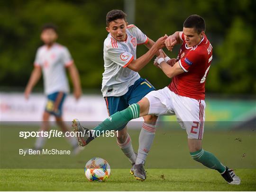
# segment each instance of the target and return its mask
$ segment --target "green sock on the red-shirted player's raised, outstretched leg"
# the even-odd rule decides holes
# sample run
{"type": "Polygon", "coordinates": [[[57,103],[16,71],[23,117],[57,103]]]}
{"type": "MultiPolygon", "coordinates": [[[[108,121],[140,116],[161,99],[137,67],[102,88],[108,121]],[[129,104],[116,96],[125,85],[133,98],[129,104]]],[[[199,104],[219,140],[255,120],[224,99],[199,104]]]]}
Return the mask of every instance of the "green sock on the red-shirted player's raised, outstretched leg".
{"type": "MultiPolygon", "coordinates": [[[[100,136],[107,130],[119,130],[120,127],[126,125],[130,120],[139,117],[139,105],[134,103],[130,105],[127,109],[116,112],[110,117],[106,118],[101,124],[94,127],[92,130],[95,132],[95,136],[100,136]],[[97,134],[96,134],[97,132],[97,134]]],[[[94,136],[94,137],[95,137],[94,136]]]]}

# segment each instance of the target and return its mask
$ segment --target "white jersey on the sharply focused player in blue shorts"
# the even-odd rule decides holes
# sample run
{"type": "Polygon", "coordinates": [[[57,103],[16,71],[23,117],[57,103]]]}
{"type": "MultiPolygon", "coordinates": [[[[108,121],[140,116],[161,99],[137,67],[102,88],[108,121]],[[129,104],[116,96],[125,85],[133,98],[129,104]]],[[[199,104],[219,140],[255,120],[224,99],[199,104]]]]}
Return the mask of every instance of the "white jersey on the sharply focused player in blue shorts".
{"type": "Polygon", "coordinates": [[[140,78],[137,72],[127,66],[136,59],[137,45],[147,43],[148,38],[135,25],[128,25],[126,33],[124,42],[115,40],[110,33],[104,41],[103,97],[124,95],[128,87],[140,78]]]}

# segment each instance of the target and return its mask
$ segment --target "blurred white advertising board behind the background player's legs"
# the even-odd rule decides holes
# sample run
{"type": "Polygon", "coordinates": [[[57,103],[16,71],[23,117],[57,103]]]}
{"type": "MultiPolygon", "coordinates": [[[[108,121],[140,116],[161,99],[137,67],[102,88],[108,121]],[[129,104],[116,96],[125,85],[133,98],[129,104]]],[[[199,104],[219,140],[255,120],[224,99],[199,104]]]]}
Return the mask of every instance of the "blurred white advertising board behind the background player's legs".
{"type": "MultiPolygon", "coordinates": [[[[1,122],[40,122],[46,106],[46,96],[31,94],[29,99],[23,93],[0,93],[0,120],[1,122]]],[[[64,101],[63,119],[71,122],[74,118],[80,121],[95,122],[98,124],[108,117],[106,103],[101,95],[83,95],[75,100],[68,95],[64,101]]],[[[51,121],[54,121],[51,117],[51,121]]],[[[142,121],[142,118],[137,119],[142,121]]]]}

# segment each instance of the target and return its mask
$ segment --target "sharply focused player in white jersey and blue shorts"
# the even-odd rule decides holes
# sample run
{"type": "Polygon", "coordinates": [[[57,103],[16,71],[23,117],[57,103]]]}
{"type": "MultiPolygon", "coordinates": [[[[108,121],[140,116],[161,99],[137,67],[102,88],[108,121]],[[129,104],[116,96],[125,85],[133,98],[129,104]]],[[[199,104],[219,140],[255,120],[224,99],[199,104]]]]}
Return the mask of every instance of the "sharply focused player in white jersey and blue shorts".
{"type": "MultiPolygon", "coordinates": [[[[111,10],[106,16],[106,25],[109,34],[104,41],[105,71],[101,92],[111,116],[137,103],[148,92],[155,90],[153,85],[140,77],[138,71],[146,66],[155,54],[159,54],[158,50],[164,46],[167,35],[159,38],[157,42],[152,41],[137,26],[128,25],[126,14],[121,10],[111,10]],[[136,49],[140,44],[144,44],[149,50],[137,58],[136,49]]],[[[118,128],[117,143],[132,165],[144,159],[155,137],[157,116],[148,115],[143,118],[145,122],[139,135],[138,156],[133,150],[126,125],[118,128]]],[[[81,146],[86,144],[82,138],[78,137],[78,139],[81,146]]],[[[133,168],[130,173],[133,175],[133,168]]]]}

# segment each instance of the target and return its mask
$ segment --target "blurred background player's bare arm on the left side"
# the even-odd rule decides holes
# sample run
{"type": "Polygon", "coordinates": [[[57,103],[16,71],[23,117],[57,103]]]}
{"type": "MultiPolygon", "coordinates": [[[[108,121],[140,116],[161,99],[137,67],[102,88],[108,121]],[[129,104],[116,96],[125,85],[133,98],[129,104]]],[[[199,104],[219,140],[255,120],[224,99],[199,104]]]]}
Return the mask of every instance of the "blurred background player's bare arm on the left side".
{"type": "Polygon", "coordinates": [[[41,75],[42,75],[41,67],[36,66],[33,69],[32,73],[30,75],[29,81],[27,83],[27,86],[26,86],[26,89],[25,89],[25,92],[24,92],[24,95],[25,95],[26,99],[28,99],[28,97],[30,95],[30,92],[32,91],[33,87],[37,84],[41,75]]]}

